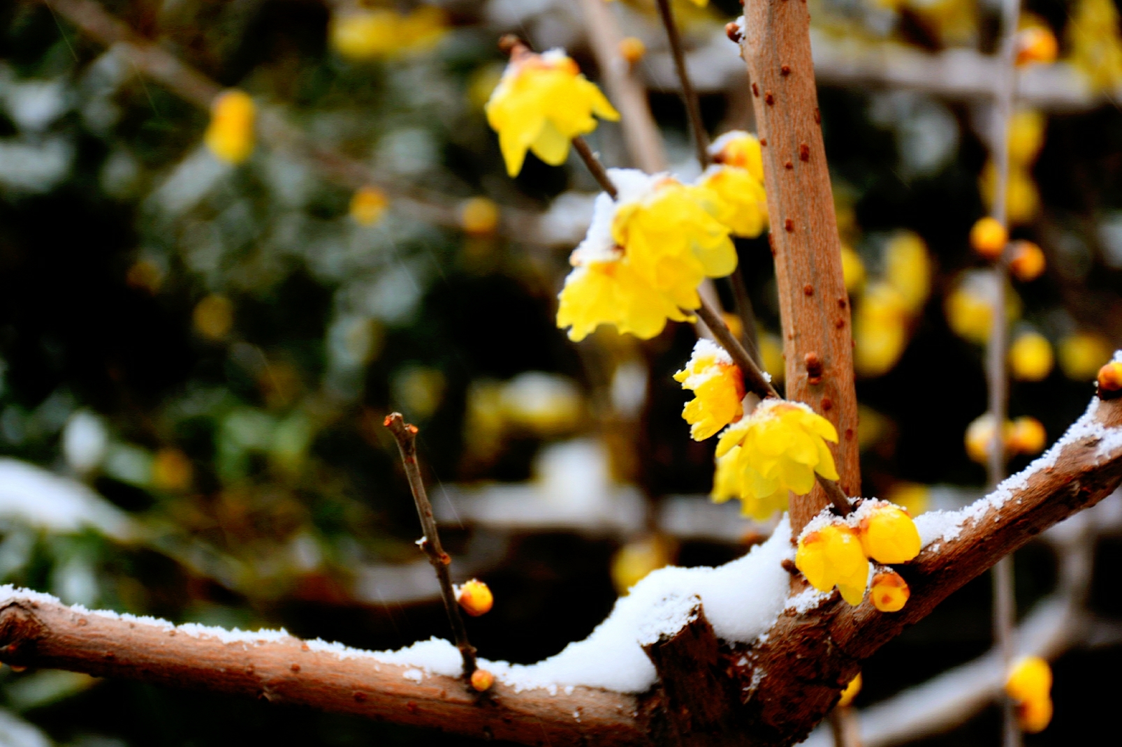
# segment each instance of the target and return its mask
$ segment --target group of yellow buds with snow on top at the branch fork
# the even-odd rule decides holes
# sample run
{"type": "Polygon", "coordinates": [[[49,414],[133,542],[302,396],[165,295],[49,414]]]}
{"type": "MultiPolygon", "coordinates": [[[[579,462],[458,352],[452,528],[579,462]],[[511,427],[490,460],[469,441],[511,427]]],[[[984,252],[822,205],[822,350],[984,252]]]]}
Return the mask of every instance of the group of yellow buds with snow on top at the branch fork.
{"type": "MultiPolygon", "coordinates": [[[[799,537],[794,564],[819,591],[837,587],[842,598],[859,605],[868,583],[870,561],[907,563],[919,554],[919,531],[908,513],[884,500],[866,500],[846,518],[821,516],[799,537]]],[[[892,571],[874,577],[873,602],[898,611],[908,601],[908,584],[892,571]]]]}

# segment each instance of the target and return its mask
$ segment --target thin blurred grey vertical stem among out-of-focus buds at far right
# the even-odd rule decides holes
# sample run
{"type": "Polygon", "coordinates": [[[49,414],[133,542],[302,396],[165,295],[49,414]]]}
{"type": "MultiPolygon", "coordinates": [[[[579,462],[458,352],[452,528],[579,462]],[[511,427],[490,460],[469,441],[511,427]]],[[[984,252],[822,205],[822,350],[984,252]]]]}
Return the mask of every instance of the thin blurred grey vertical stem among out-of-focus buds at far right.
{"type": "MultiPolygon", "coordinates": [[[[994,191],[991,216],[1006,225],[1006,194],[1009,186],[1009,122],[1013,117],[1013,99],[1017,89],[1017,22],[1021,15],[1021,0],[1002,2],[1002,39],[997,61],[997,80],[993,96],[993,149],[994,191]]],[[[1009,265],[1005,253],[994,262],[993,326],[986,348],[986,368],[990,389],[990,416],[993,418],[993,441],[990,443],[990,459],[986,464],[990,489],[1005,478],[1004,424],[1009,409],[1009,377],[1005,357],[1009,347],[1009,325],[1005,320],[1005,285],[1009,282],[1009,265]]],[[[1013,557],[1008,555],[993,568],[993,634],[1001,651],[1005,670],[1013,663],[1015,644],[1013,625],[1017,615],[1013,584],[1013,557]]],[[[1004,747],[1019,747],[1021,731],[1017,723],[1013,703],[1004,698],[1002,702],[1004,747]]]]}

